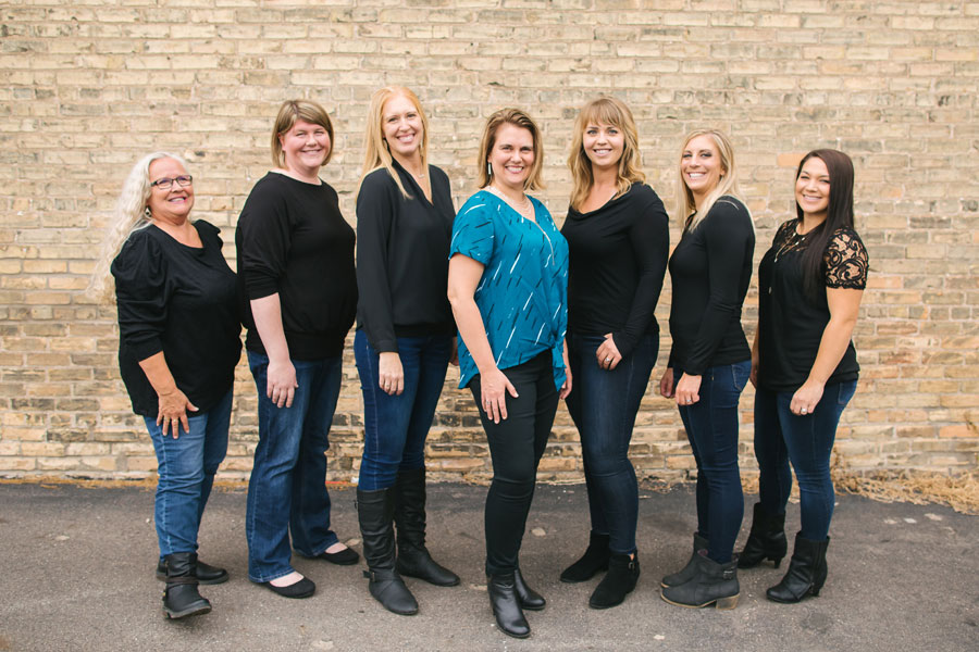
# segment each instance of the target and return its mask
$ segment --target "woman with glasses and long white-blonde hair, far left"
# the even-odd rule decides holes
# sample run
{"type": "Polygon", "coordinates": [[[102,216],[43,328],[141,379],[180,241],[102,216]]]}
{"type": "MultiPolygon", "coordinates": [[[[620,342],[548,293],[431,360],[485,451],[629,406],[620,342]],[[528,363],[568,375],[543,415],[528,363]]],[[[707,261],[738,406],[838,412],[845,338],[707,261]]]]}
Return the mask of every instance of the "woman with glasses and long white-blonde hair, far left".
{"type": "Polygon", "coordinates": [[[120,372],[157,452],[157,577],[166,581],[170,618],[208,613],[198,584],[227,580],[226,570],[197,559],[197,532],[227,452],[241,353],[235,274],[218,228],[190,222],[191,208],[194,186],[179,156],[140,159],[123,185],[92,288],[108,291],[110,268],[120,372]]]}

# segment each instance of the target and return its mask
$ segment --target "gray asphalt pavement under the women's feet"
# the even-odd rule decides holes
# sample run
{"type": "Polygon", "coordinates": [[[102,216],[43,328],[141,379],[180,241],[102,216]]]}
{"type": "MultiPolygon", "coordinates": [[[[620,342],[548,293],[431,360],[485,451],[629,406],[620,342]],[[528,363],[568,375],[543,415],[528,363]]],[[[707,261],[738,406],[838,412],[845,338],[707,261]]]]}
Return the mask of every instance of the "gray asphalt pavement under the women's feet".
{"type": "MultiPolygon", "coordinates": [[[[355,539],[354,491],[332,493],[334,528],[355,539]]],[[[361,566],[294,560],[318,585],[309,600],[249,582],[245,493],[215,491],[201,556],[227,567],[232,579],[201,588],[211,614],[171,622],[152,573],[151,491],[0,484],[0,650],[979,650],[979,517],[840,496],[830,576],[818,598],[796,605],[765,599],[783,562],[779,570],[742,572],[733,611],[685,610],[662,602],[658,588],[689,555],[689,487],[642,492],[643,575],[627,602],[607,611],[587,607],[597,578],[558,580],[586,543],[584,487],[538,487],[521,566],[548,604],[528,614],[530,639],[511,639],[493,624],[485,594],[484,496],[483,487],[430,488],[430,549],[462,585],[409,579],[421,611],[404,617],[371,599],[361,566]]],[[[797,518],[790,505],[788,522],[797,518]]]]}

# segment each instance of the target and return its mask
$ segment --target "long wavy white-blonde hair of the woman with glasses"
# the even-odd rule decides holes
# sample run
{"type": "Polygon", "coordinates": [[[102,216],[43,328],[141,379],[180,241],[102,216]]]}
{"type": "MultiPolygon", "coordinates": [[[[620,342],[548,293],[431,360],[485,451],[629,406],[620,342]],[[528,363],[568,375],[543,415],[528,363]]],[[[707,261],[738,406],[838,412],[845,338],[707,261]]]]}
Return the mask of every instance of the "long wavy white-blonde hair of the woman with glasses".
{"type": "Polygon", "coordinates": [[[114,284],[109,280],[112,276],[109,268],[123,243],[133,231],[152,224],[149,208],[146,205],[153,190],[150,185],[149,168],[153,161],[161,159],[173,159],[184,167],[185,172],[187,171],[187,162],[170,152],[147,154],[139,159],[129,171],[129,175],[123,181],[122,192],[119,193],[115,202],[115,212],[106,238],[102,240],[102,248],[86,290],[86,294],[99,302],[108,301],[112,296],[114,284]]]}

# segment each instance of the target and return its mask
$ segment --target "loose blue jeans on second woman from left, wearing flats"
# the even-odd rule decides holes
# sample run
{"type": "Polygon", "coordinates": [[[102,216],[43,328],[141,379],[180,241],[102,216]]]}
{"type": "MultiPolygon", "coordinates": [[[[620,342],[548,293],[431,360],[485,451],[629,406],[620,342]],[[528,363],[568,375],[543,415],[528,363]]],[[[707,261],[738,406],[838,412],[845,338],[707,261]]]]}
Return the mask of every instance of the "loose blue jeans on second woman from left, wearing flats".
{"type": "Polygon", "coordinates": [[[293,572],[293,547],[317,556],[337,542],[330,529],[326,450],[336,410],[343,358],[293,360],[299,387],[292,408],[276,408],[265,396],[269,359],[248,351],[258,388],[259,443],[248,481],[245,536],[248,577],[264,582],[293,572]]]}

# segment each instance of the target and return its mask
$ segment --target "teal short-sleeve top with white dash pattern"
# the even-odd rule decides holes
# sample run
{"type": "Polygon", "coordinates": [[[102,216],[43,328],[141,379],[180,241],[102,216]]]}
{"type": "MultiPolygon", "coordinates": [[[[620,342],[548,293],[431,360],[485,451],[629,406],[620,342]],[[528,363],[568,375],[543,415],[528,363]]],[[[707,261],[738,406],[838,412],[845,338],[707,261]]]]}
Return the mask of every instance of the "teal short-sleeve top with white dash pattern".
{"type": "MultiPolygon", "coordinates": [[[[568,328],[568,242],[543,203],[530,198],[536,223],[492,192],[469,198],[456,215],[449,258],[460,253],[485,266],[474,299],[500,369],[550,350],[554,383],[565,383],[568,328]]],[[[479,374],[459,338],[459,387],[479,374]]]]}

